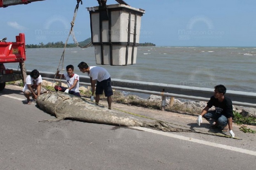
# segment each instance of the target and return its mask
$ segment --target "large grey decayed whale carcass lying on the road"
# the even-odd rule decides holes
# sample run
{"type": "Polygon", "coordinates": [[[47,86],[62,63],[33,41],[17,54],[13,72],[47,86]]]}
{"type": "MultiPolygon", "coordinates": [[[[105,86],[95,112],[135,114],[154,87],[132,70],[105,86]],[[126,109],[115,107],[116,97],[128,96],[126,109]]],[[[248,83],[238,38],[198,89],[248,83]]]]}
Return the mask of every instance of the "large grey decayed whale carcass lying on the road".
{"type": "Polygon", "coordinates": [[[152,127],[162,131],[187,131],[185,129],[173,128],[161,121],[147,122],[126,113],[119,113],[114,110],[102,108],[92,104],[90,101],[71,94],[62,92],[45,93],[38,96],[37,105],[47,113],[54,115],[57,119],[73,119],[82,122],[98,124],[109,124],[115,126],[141,126],[152,127]]]}

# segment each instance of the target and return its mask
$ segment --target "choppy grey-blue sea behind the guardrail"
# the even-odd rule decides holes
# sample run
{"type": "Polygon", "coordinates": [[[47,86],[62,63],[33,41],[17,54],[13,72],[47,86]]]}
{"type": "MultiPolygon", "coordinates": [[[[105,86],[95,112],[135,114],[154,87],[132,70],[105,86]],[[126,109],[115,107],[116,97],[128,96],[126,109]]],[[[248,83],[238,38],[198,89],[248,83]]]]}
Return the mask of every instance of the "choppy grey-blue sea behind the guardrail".
{"type": "MultiPolygon", "coordinates": [[[[72,64],[86,62],[95,66],[95,49],[89,48],[28,48],[26,69],[55,73],[72,64]],[[64,55],[62,57],[62,54],[64,55]]],[[[7,68],[18,68],[7,63],[7,68]]],[[[109,71],[111,78],[144,82],[206,87],[218,84],[227,90],[256,92],[256,48],[253,47],[138,47],[136,64],[128,66],[96,65],[109,71]]]]}

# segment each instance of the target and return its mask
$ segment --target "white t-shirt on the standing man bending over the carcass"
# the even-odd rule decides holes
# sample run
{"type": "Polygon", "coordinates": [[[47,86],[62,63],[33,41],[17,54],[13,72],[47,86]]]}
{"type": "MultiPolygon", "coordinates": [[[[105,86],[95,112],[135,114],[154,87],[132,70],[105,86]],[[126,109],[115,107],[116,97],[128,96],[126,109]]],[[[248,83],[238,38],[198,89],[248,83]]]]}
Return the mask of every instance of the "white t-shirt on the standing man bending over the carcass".
{"type": "Polygon", "coordinates": [[[89,69],[90,74],[88,74],[88,76],[90,76],[92,80],[98,80],[99,82],[101,82],[102,80],[107,80],[108,78],[110,78],[109,72],[107,72],[107,70],[103,67],[90,66],[89,69]]]}

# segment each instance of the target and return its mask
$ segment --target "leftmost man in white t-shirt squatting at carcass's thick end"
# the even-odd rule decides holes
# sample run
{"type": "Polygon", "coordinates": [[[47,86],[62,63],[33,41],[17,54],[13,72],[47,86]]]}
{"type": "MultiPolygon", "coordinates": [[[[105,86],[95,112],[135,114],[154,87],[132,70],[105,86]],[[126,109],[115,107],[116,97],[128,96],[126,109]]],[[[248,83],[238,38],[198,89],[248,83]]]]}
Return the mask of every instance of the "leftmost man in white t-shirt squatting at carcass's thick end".
{"type": "Polygon", "coordinates": [[[27,104],[31,104],[30,95],[32,94],[33,99],[37,99],[40,94],[46,93],[47,90],[41,87],[43,82],[39,71],[34,69],[26,78],[26,84],[23,87],[23,93],[27,98],[27,104]],[[38,93],[39,92],[39,93],[38,93]]]}

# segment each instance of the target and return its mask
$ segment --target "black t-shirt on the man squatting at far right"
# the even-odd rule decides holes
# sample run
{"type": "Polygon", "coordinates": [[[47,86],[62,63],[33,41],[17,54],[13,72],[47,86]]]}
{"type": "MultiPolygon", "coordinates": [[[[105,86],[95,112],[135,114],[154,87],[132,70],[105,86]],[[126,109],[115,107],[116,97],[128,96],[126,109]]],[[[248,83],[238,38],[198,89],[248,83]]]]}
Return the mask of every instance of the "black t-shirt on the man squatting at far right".
{"type": "Polygon", "coordinates": [[[224,115],[227,118],[233,117],[233,107],[232,101],[225,97],[222,102],[219,102],[214,96],[211,96],[211,99],[207,103],[207,107],[211,108],[215,106],[215,112],[217,114],[224,115]]]}

